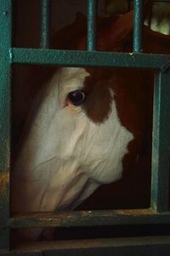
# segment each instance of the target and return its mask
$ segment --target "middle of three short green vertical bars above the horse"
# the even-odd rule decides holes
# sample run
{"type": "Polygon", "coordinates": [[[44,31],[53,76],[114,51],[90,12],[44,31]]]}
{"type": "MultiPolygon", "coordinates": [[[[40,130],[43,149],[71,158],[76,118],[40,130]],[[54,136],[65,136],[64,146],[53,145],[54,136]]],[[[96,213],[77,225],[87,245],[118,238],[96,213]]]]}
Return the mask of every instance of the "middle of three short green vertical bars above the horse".
{"type": "Polygon", "coordinates": [[[96,48],[97,0],[88,0],[88,51],[96,48]]]}

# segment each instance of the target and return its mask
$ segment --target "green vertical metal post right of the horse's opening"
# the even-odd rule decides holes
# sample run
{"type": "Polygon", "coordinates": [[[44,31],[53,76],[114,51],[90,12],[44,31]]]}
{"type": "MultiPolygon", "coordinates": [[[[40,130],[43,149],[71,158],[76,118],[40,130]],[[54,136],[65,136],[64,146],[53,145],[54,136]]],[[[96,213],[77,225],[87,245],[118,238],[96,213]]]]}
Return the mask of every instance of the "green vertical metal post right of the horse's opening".
{"type": "Polygon", "coordinates": [[[151,208],[168,210],[170,170],[170,71],[158,71],[155,78],[151,208]]]}

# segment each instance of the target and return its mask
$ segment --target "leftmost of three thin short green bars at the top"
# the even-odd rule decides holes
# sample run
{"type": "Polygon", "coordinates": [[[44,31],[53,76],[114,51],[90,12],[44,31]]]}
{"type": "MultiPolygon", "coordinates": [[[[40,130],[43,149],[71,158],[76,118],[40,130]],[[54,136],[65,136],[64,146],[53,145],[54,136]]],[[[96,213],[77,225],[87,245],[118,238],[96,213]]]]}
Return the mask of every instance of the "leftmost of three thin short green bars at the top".
{"type": "Polygon", "coordinates": [[[49,47],[49,1],[42,0],[41,48],[49,47]]]}

